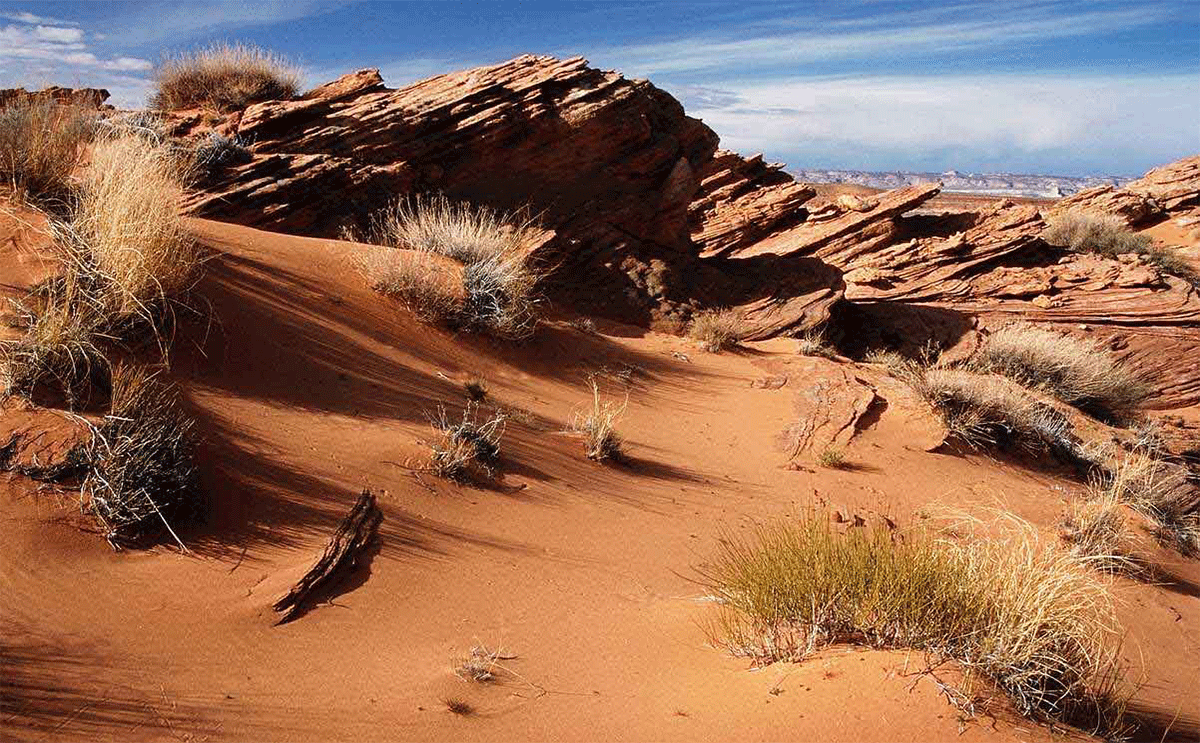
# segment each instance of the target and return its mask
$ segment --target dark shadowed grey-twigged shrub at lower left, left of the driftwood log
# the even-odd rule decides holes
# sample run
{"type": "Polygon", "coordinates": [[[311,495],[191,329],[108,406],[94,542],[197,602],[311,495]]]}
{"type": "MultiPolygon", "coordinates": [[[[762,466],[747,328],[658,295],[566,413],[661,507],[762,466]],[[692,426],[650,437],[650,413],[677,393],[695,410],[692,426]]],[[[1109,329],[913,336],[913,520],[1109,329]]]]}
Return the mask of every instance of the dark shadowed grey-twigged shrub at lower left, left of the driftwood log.
{"type": "Polygon", "coordinates": [[[196,513],[193,424],[180,408],[174,387],[145,370],[113,372],[112,409],[97,426],[83,456],[84,509],[114,546],[167,529],[196,513]]]}

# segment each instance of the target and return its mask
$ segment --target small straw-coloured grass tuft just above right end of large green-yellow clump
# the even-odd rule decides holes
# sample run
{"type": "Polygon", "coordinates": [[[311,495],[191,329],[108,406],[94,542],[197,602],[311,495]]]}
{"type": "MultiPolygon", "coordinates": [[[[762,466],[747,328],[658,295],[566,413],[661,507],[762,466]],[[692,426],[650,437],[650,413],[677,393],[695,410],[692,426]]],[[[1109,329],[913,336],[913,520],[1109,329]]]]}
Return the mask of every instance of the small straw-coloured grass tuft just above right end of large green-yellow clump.
{"type": "Polygon", "coordinates": [[[1087,565],[1104,573],[1140,573],[1132,556],[1129,519],[1110,491],[1102,489],[1090,498],[1074,501],[1058,526],[1070,552],[1087,565]]]}

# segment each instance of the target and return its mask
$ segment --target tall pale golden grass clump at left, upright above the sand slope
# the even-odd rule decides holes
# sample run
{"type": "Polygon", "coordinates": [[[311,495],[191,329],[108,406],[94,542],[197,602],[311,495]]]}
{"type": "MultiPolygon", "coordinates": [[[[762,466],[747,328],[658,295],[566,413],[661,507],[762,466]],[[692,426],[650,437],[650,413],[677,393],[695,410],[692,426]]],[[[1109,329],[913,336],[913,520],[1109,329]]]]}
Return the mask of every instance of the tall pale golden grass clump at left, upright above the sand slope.
{"type": "Polygon", "coordinates": [[[179,160],[166,146],[139,137],[102,139],[70,218],[53,224],[66,270],[92,288],[114,324],[152,319],[197,278],[200,254],[179,214],[181,184],[179,160]]]}

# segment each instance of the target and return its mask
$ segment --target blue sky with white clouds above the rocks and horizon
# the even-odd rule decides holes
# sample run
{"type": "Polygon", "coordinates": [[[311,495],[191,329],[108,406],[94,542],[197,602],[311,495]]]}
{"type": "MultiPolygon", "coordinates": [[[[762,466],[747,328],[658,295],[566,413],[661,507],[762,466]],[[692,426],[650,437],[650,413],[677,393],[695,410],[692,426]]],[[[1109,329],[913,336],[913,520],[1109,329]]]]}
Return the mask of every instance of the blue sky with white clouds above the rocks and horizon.
{"type": "Polygon", "coordinates": [[[140,106],[154,61],[212,41],[312,84],[581,54],[797,168],[1140,174],[1200,152],[1200,0],[0,1],[0,86],[140,106]]]}

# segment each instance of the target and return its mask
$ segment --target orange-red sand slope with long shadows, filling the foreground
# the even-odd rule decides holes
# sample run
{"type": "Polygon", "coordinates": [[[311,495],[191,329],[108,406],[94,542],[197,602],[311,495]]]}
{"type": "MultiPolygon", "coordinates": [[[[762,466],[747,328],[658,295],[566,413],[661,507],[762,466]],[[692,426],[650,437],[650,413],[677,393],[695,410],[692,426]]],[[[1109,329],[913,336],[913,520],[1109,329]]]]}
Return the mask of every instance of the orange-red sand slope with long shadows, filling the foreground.
{"type": "MultiPolygon", "coordinates": [[[[611,325],[552,323],[523,346],[455,337],[364,288],[344,244],[194,228],[221,253],[200,287],[215,322],[176,342],[173,375],[205,436],[209,520],[184,533],[191,555],[116,555],[70,495],[0,479],[4,739],[1054,737],[961,720],[931,678],[905,676],[918,654],[835,648],[749,670],[706,643],[691,569],[722,533],[814,505],[905,525],[930,504],[1002,503],[1050,528],[1076,484],[929,454],[898,401],[854,437],[854,469],[788,468],[798,391],[847,368],[874,384],[877,368],[791,341],[714,356],[611,325]],[[626,466],[588,462],[564,433],[599,370],[629,395],[626,466]],[[406,468],[472,373],[515,417],[493,490],[406,468]],[[787,383],[751,387],[770,376],[787,383]],[[385,514],[368,565],[272,627],[270,603],[365,486],[385,514]],[[454,676],[479,643],[515,655],[502,683],[454,676]]],[[[1140,703],[1195,735],[1200,570],[1159,557],[1176,583],[1116,586],[1128,655],[1140,703]]]]}

